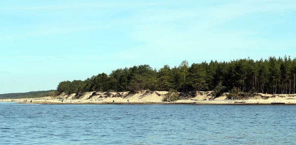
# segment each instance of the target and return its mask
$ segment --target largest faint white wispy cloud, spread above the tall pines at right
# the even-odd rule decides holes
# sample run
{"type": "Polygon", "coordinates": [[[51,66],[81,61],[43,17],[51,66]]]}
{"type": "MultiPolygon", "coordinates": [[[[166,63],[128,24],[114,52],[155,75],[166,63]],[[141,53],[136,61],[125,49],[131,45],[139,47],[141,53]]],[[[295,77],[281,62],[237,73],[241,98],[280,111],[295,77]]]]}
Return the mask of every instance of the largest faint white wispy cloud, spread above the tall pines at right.
{"type": "MultiPolygon", "coordinates": [[[[200,9],[146,11],[145,15],[139,13],[136,16],[138,25],[130,34],[132,39],[143,42],[142,45],[124,50],[118,55],[123,59],[149,59],[153,56],[161,60],[196,56],[207,60],[209,55],[200,54],[216,52],[212,57],[218,58],[221,55],[227,57],[231,54],[230,51],[240,52],[240,55],[252,55],[252,52],[256,51],[285,50],[296,47],[293,43],[295,38],[274,40],[264,37],[264,32],[250,27],[259,25],[256,22],[233,30],[223,29],[222,26],[247,15],[272,14],[295,9],[295,0],[238,0],[200,9]],[[161,15],[157,15],[159,13],[161,15]]],[[[273,20],[275,22],[266,22],[268,24],[264,25],[279,23],[276,19],[273,20]]]]}

